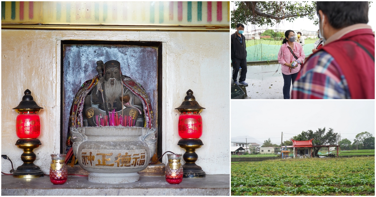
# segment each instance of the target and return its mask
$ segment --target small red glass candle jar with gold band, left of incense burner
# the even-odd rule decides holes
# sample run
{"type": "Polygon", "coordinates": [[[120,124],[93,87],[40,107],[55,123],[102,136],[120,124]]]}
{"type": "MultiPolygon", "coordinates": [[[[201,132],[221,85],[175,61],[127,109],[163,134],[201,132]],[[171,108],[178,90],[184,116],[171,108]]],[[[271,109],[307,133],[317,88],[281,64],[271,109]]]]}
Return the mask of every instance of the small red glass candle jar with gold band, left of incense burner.
{"type": "Polygon", "coordinates": [[[67,182],[68,168],[65,165],[65,154],[52,154],[50,167],[50,181],[54,185],[62,185],[67,182]]]}

